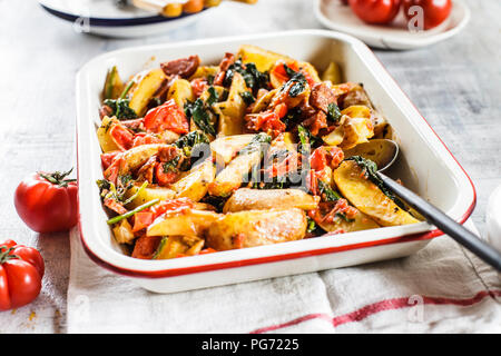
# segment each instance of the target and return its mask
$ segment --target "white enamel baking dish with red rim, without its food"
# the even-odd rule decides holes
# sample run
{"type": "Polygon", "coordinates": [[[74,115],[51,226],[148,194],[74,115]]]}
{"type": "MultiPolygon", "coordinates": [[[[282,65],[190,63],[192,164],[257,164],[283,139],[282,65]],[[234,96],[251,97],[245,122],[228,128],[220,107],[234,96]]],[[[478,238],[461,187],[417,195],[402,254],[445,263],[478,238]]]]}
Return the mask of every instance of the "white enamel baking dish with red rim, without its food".
{"type": "Polygon", "coordinates": [[[355,38],[299,30],[135,47],[99,56],[77,75],[79,226],[82,245],[92,260],[135,278],[146,289],[173,293],[403,257],[442,235],[420,222],[168,260],[124,255],[106,224],[96,186],[102,177],[96,123],[107,69],[116,65],[128,77],[145,66],[194,53],[204,62],[217,63],[225,52],[235,52],[242,43],[311,61],[320,70],[331,61],[340,63],[344,79],[364,83],[395,131],[402,155],[390,175],[455,220],[464,222],[470,216],[475,205],[470,178],[372,51],[355,38]]]}

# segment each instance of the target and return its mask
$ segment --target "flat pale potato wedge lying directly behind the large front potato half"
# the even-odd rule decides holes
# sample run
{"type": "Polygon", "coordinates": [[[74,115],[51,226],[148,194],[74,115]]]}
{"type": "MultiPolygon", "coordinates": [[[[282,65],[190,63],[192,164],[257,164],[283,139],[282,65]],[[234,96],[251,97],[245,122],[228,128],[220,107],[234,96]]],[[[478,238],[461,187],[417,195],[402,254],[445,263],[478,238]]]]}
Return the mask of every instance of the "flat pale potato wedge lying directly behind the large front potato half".
{"type": "Polygon", "coordinates": [[[320,197],[311,196],[299,189],[249,189],[236,190],[226,201],[223,212],[236,212],[242,210],[315,209],[320,197]]]}

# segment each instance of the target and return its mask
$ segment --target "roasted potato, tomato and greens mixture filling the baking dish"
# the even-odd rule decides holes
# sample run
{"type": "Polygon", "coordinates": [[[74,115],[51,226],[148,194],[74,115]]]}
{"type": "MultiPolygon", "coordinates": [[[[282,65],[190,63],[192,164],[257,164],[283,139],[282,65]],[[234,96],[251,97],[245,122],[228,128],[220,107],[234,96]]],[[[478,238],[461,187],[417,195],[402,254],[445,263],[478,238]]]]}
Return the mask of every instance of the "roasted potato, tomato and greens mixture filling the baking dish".
{"type": "Polygon", "coordinates": [[[109,69],[97,185],[115,239],[167,259],[418,222],[350,154],[392,130],[341,78],[255,46],[127,80],[109,69]]]}

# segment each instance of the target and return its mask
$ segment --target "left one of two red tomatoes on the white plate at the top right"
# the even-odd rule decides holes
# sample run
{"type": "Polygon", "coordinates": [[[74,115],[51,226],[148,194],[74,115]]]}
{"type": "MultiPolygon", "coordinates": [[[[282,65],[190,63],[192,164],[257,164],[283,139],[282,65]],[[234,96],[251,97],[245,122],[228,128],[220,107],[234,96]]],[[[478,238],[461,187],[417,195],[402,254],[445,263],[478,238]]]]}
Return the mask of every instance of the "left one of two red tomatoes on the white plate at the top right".
{"type": "Polygon", "coordinates": [[[400,0],[348,0],[353,12],[367,23],[390,23],[400,9],[400,0]]]}

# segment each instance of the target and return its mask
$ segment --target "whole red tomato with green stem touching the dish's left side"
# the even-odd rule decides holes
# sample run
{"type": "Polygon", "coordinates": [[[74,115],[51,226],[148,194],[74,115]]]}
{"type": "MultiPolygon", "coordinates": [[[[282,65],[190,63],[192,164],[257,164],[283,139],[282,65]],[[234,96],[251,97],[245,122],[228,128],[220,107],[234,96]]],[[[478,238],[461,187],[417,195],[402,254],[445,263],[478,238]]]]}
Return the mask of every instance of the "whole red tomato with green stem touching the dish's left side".
{"type": "Polygon", "coordinates": [[[68,230],[77,224],[77,182],[71,172],[37,172],[23,179],[14,194],[19,217],[37,233],[68,230]]]}

